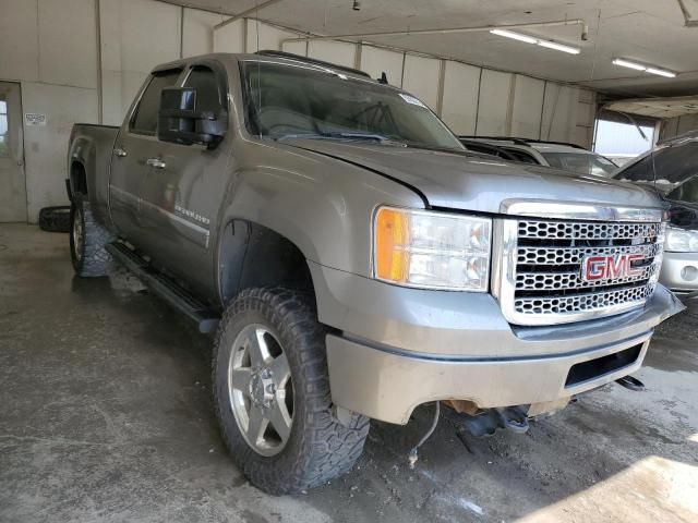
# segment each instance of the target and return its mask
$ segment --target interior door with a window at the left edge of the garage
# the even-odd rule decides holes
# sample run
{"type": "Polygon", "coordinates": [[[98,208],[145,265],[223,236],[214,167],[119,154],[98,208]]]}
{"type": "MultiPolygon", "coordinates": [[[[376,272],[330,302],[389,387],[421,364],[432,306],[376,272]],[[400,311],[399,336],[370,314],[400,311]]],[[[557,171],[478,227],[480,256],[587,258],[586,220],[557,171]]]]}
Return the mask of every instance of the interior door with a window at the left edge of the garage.
{"type": "Polygon", "coordinates": [[[0,222],[27,221],[20,84],[0,82],[0,222]]]}

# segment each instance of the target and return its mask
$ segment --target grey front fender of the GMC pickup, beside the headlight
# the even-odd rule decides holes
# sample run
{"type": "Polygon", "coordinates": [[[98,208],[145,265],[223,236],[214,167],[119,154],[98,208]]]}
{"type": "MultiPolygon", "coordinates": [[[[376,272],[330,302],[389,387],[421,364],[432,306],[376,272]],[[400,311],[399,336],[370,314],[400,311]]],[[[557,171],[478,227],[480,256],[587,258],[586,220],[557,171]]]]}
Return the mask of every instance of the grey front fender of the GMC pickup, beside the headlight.
{"type": "Polygon", "coordinates": [[[370,276],[376,206],[424,207],[413,191],[365,169],[278,142],[242,142],[220,230],[249,220],[287,238],[311,262],[370,276]]]}

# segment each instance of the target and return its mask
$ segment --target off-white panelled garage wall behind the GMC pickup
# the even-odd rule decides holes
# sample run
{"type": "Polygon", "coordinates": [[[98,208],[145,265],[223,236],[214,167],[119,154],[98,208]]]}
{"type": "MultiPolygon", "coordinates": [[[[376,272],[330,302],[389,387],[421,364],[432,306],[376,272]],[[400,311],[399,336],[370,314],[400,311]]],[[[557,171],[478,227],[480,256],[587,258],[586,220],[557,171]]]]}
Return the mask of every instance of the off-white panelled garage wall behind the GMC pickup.
{"type": "Polygon", "coordinates": [[[356,66],[420,97],[458,134],[515,134],[590,146],[595,93],[453,60],[299,35],[254,20],[157,0],[0,0],[0,81],[19,82],[29,220],[67,204],[65,148],[75,122],[119,125],[149,70],[205,52],[282,49],[356,66]]]}

